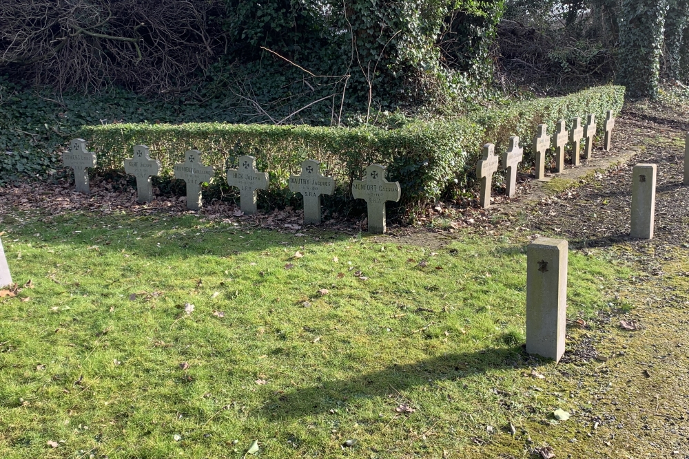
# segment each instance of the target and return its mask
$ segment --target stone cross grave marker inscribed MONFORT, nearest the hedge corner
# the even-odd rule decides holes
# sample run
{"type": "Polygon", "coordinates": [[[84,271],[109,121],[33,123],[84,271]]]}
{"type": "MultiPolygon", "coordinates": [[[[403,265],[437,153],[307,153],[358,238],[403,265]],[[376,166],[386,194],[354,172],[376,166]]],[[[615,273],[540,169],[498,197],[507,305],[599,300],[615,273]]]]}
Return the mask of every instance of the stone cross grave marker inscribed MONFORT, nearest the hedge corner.
{"type": "Polygon", "coordinates": [[[364,180],[354,180],[351,194],[355,199],[362,199],[368,204],[369,233],[385,233],[385,202],[400,200],[400,182],[388,182],[385,180],[385,168],[371,164],[366,168],[364,180]]]}

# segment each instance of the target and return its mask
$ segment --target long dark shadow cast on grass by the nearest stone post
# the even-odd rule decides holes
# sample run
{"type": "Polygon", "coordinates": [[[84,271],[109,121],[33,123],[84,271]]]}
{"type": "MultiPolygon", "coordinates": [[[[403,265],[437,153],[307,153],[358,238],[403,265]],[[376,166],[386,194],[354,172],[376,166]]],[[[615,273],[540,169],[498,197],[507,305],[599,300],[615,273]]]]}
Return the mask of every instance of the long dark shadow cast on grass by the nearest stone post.
{"type": "Polygon", "coordinates": [[[520,345],[447,354],[404,365],[392,364],[377,372],[349,379],[323,381],[315,386],[297,388],[283,394],[276,393],[265,402],[263,415],[269,418],[298,418],[324,414],[361,399],[383,398],[389,394],[396,396],[398,391],[413,387],[433,385],[439,381],[456,381],[506,367],[518,369],[529,365],[537,365],[537,360],[528,356],[524,346],[520,345]]]}

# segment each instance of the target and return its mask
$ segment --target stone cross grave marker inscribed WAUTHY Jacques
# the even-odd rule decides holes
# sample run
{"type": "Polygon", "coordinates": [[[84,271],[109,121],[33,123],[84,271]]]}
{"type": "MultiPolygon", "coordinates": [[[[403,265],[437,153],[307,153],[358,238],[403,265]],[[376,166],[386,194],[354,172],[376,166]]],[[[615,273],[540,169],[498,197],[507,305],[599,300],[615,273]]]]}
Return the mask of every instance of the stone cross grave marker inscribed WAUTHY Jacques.
{"type": "Polygon", "coordinates": [[[320,162],[302,162],[300,175],[289,175],[289,191],[301,193],[304,197],[304,224],[320,224],[320,196],[335,191],[335,180],[320,173],[320,162]]]}

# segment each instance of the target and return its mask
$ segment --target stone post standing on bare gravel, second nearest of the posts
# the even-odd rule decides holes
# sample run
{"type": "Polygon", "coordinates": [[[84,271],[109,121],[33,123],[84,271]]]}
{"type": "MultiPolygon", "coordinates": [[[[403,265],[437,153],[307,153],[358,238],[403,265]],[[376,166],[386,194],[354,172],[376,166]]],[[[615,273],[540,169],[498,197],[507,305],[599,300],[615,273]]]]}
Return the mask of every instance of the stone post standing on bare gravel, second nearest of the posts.
{"type": "Polygon", "coordinates": [[[637,164],[632,171],[631,237],[653,239],[656,175],[655,164],[637,164]]]}

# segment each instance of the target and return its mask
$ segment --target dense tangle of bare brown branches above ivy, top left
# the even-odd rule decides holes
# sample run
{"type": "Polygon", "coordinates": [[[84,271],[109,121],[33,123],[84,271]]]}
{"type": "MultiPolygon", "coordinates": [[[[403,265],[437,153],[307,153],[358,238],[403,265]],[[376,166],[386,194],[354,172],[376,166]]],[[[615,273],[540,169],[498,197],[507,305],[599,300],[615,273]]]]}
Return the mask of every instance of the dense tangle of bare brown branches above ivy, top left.
{"type": "Polygon", "coordinates": [[[216,52],[219,0],[0,0],[0,68],[55,89],[186,89],[216,52]]]}

